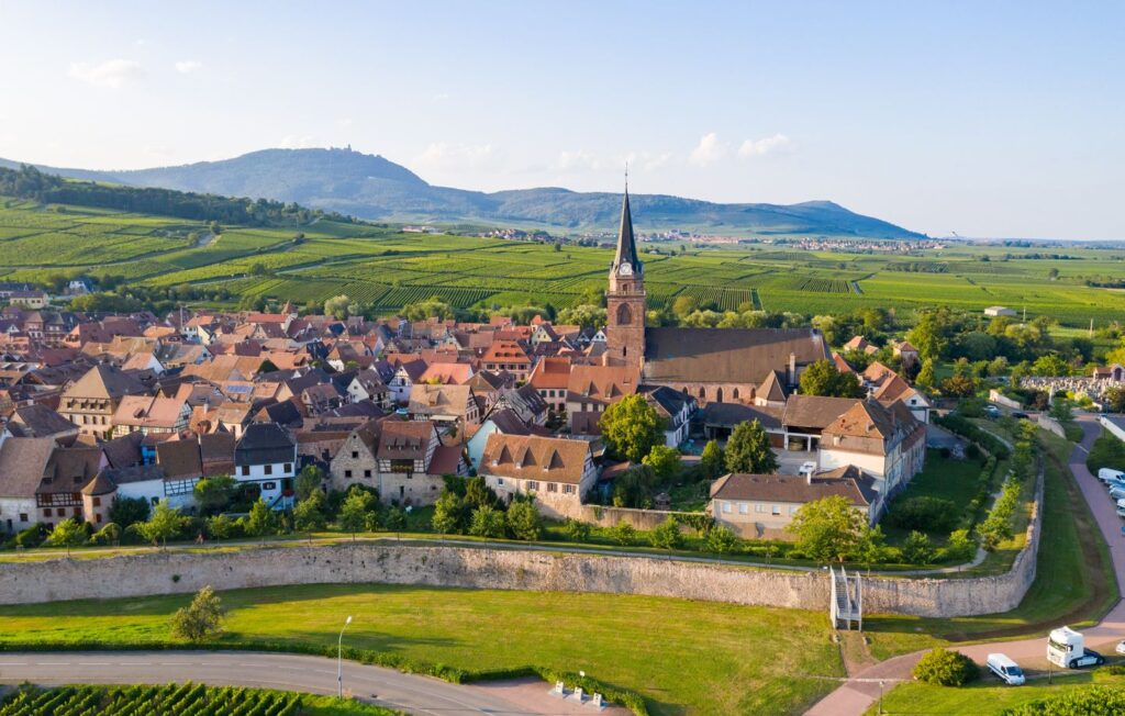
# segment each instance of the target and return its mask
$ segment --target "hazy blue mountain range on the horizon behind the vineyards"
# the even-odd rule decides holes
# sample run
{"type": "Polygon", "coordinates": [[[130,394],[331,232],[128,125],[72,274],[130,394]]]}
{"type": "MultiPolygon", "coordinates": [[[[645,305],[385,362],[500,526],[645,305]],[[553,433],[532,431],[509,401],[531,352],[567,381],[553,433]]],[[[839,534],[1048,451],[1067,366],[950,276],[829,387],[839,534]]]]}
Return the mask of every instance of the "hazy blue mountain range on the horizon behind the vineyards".
{"type": "MultiPolygon", "coordinates": [[[[18,162],[0,158],[0,166],[18,162]]],[[[37,165],[73,179],[295,201],[364,219],[613,229],[621,196],[560,188],[480,192],[434,187],[405,166],[350,148],[262,149],[218,162],[132,171],[37,165]]],[[[630,197],[638,228],[728,235],[824,235],[920,238],[831,201],[714,203],[666,194],[630,197]]]]}

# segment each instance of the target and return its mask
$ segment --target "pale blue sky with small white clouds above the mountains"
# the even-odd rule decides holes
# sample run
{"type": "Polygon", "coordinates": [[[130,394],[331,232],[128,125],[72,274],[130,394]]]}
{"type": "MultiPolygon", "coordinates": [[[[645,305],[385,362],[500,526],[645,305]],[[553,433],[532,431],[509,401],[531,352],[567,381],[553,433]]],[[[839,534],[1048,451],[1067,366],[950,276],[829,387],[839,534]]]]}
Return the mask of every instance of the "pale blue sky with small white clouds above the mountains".
{"type": "Polygon", "coordinates": [[[431,183],[1125,238],[1125,2],[0,0],[0,156],[267,147],[431,183]]]}

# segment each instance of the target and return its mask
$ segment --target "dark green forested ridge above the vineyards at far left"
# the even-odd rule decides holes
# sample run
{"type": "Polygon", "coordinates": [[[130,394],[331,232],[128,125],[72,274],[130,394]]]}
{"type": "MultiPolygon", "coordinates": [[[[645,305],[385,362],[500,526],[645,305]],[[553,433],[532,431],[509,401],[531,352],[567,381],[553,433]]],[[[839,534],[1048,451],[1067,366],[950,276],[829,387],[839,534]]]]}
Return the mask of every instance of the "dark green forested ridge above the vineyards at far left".
{"type": "MultiPolygon", "coordinates": [[[[34,166],[0,167],[0,196],[42,203],[69,203],[135,214],[250,226],[303,225],[326,216],[320,209],[268,199],[236,199],[143,187],[73,181],[34,166]]],[[[331,215],[332,218],[346,220],[331,215]]]]}

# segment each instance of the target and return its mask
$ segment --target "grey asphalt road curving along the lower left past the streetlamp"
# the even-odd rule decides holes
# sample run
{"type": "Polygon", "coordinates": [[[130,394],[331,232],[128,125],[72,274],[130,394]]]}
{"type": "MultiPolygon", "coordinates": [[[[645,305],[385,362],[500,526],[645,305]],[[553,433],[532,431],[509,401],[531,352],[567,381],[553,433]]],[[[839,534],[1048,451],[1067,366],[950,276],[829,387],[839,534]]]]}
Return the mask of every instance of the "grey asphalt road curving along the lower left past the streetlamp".
{"type": "MultiPolygon", "coordinates": [[[[361,700],[411,714],[592,714],[588,705],[548,695],[537,679],[462,686],[393,669],[343,662],[344,689],[361,700]]],[[[0,683],[169,683],[245,686],[308,694],[336,692],[336,662],[261,652],[0,653],[0,683]]],[[[624,714],[606,709],[606,714],[624,714]]]]}

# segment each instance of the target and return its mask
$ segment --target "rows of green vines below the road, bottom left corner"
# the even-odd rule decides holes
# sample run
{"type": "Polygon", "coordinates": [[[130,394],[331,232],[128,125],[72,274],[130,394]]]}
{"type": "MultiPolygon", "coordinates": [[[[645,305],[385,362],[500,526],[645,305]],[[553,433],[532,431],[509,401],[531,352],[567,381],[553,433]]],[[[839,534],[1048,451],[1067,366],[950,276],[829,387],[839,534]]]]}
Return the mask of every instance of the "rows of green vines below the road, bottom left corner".
{"type": "Polygon", "coordinates": [[[367,705],[285,691],[206,687],[200,683],[166,686],[64,686],[53,689],[20,687],[0,701],[0,716],[316,716],[363,714],[393,716],[394,712],[367,705]]]}

